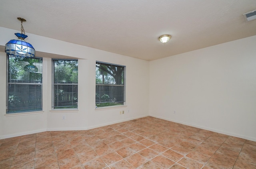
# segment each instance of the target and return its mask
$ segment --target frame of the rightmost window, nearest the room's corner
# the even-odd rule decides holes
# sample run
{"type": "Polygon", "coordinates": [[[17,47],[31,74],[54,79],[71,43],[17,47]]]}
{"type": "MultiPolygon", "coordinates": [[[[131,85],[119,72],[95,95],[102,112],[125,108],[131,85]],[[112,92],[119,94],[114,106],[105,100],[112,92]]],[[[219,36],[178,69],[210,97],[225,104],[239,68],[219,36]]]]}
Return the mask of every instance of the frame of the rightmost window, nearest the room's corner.
{"type": "MultiPolygon", "coordinates": [[[[126,66],[124,65],[118,65],[118,64],[114,64],[114,63],[106,63],[106,62],[102,62],[102,61],[96,61],[96,71],[97,71],[97,65],[98,64],[102,64],[102,65],[112,65],[112,66],[116,66],[116,67],[122,67],[123,68],[123,71],[122,71],[122,83],[121,85],[118,85],[118,84],[103,84],[103,83],[97,83],[97,77],[96,77],[96,89],[95,89],[95,109],[102,109],[102,108],[115,108],[115,107],[119,107],[119,106],[125,106],[126,105],[126,66]],[[122,103],[122,104],[117,104],[117,105],[106,105],[106,106],[99,106],[99,102],[97,102],[97,87],[98,86],[120,86],[122,87],[122,100],[121,101],[117,101],[119,103],[122,103]]],[[[97,72],[96,72],[97,74],[97,72]]],[[[96,75],[97,76],[97,75],[96,75]]],[[[113,77],[113,76],[112,76],[113,77]]],[[[114,78],[114,77],[113,77],[114,78]]],[[[116,82],[116,79],[115,79],[115,82],[116,82]]],[[[101,94],[98,94],[98,96],[100,97],[101,94]]],[[[112,98],[113,99],[113,98],[112,98]]],[[[112,100],[110,99],[110,100],[112,100]]],[[[105,103],[110,103],[110,102],[115,102],[116,101],[109,101],[109,102],[105,102],[105,103]]],[[[104,102],[102,102],[104,103],[104,102]]]]}

